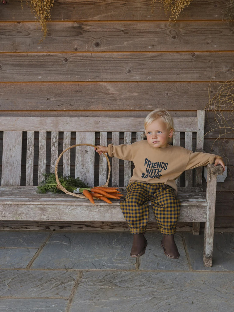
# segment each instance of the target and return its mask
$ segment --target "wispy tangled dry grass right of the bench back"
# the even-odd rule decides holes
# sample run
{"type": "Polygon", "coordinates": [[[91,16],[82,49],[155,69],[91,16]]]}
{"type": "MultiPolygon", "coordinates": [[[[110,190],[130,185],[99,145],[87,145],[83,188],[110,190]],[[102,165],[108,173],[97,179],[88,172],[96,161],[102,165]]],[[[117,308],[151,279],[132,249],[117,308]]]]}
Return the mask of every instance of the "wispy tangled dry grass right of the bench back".
{"type": "MultiPolygon", "coordinates": [[[[234,73],[234,71],[233,71],[234,73]]],[[[211,83],[209,85],[209,101],[205,107],[207,113],[212,112],[212,121],[209,119],[208,123],[211,127],[211,131],[219,131],[218,141],[219,146],[222,150],[222,145],[231,134],[234,132],[234,76],[227,81],[217,82],[220,86],[215,95],[211,96],[211,83]]],[[[215,144],[213,143],[213,145],[215,144]]],[[[213,147],[212,145],[212,147],[213,147]]],[[[234,145],[232,147],[234,149],[234,145]]]]}

